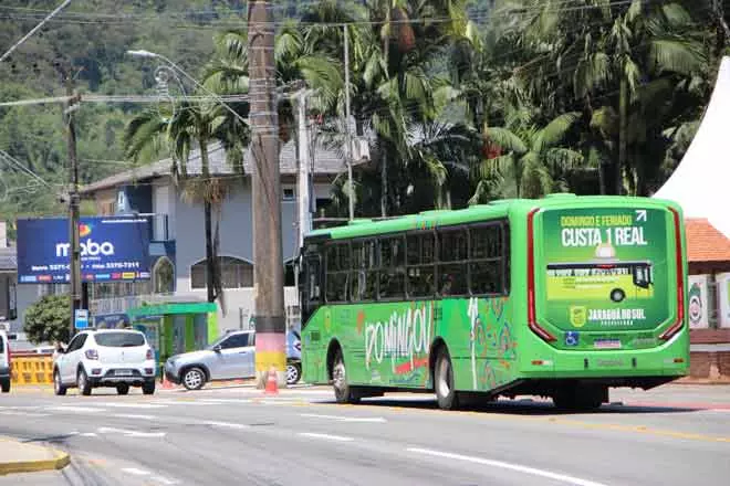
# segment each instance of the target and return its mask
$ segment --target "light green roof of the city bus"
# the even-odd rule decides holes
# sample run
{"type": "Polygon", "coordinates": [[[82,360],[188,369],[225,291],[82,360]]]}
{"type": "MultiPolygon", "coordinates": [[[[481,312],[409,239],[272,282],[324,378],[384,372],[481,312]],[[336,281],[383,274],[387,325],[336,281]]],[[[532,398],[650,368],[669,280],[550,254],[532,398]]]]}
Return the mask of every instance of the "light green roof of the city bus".
{"type": "Polygon", "coordinates": [[[677,203],[661,199],[627,196],[575,196],[572,193],[555,193],[548,194],[542,199],[500,199],[487,204],[474,204],[459,210],[430,210],[423,211],[418,214],[406,214],[388,219],[355,219],[343,226],[312,231],[306,234],[306,239],[338,240],[399,231],[417,231],[459,223],[508,218],[510,213],[514,211],[526,212],[534,208],[581,208],[606,204],[614,207],[640,205],[643,208],[672,207],[681,214],[681,210],[677,203]]]}

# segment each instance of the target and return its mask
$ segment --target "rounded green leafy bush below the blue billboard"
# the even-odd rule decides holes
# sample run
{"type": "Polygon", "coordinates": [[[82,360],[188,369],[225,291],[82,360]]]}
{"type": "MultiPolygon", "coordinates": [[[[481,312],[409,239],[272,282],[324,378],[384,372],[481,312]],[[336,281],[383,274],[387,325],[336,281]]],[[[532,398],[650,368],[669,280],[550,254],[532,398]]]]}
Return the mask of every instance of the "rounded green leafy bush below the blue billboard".
{"type": "Polygon", "coordinates": [[[71,316],[67,295],[46,295],[28,307],[23,330],[31,342],[69,342],[71,316]]]}

